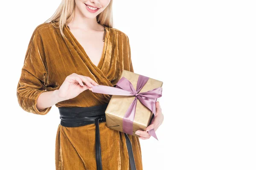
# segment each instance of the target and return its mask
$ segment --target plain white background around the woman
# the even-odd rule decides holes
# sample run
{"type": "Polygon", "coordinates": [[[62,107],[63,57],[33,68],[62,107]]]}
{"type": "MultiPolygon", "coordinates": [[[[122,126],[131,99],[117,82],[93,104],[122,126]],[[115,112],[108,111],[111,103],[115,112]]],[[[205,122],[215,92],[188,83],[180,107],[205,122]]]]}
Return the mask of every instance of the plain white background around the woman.
{"type": "MultiPolygon", "coordinates": [[[[1,170],[54,170],[58,109],[17,102],[35,27],[60,0],[4,1],[1,12],[1,170]]],[[[114,0],[134,72],[163,81],[159,141],[141,140],[144,170],[256,170],[256,3],[114,0]]]]}

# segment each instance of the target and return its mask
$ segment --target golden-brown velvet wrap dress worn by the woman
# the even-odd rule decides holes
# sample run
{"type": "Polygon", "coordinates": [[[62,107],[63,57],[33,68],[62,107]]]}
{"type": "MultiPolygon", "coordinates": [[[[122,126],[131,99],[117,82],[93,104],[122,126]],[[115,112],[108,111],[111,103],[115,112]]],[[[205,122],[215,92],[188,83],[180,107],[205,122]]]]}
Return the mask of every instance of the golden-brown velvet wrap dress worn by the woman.
{"type": "MultiPolygon", "coordinates": [[[[42,23],[35,28],[17,85],[17,100],[27,112],[45,115],[51,107],[38,110],[38,96],[54,91],[72,74],[92,78],[99,85],[113,87],[122,70],[132,71],[129,39],[116,28],[105,27],[104,48],[96,66],[84,48],[71,33],[67,24],[61,36],[57,23],[42,23]]],[[[73,99],[55,104],[56,107],[91,107],[108,103],[111,95],[86,90],[73,99]]],[[[95,124],[81,127],[58,125],[55,147],[56,170],[96,170],[95,124]]],[[[99,123],[103,170],[131,169],[123,132],[110,129],[106,122],[99,123]]],[[[137,170],[142,170],[142,154],[137,136],[131,140],[137,170]]]]}

